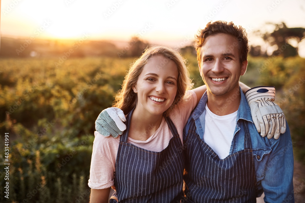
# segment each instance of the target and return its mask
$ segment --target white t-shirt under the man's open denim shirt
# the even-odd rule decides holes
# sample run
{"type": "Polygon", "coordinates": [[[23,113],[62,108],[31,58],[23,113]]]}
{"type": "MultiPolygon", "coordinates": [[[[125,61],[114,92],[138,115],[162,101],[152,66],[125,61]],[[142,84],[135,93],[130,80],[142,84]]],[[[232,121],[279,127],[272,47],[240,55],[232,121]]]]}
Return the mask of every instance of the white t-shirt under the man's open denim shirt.
{"type": "Polygon", "coordinates": [[[218,116],[213,114],[206,105],[203,141],[216,152],[220,159],[224,159],[229,155],[236,118],[237,111],[225,116],[218,116]]]}

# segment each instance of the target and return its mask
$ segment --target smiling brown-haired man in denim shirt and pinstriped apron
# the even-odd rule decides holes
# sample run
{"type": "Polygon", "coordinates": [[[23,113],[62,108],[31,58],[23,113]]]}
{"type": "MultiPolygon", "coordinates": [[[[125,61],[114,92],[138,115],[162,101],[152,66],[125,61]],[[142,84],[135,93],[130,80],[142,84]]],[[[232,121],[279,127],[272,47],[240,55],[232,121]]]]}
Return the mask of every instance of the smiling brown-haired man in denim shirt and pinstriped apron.
{"type": "Polygon", "coordinates": [[[185,201],[256,202],[264,192],[265,202],[294,202],[288,124],[278,139],[258,136],[246,96],[251,100],[270,87],[246,96],[239,88],[248,65],[245,30],[232,22],[208,23],[195,47],[207,91],[184,129],[185,201]]]}

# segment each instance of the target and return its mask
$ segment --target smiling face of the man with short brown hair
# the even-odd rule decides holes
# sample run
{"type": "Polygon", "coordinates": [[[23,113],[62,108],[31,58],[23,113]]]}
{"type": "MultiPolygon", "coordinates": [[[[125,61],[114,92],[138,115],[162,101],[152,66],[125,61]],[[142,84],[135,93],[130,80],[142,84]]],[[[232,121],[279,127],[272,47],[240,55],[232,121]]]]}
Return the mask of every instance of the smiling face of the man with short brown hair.
{"type": "Polygon", "coordinates": [[[239,61],[238,41],[235,37],[219,33],[209,36],[198,62],[200,75],[207,89],[216,96],[230,96],[239,88],[239,78],[246,72],[248,61],[239,61]]]}

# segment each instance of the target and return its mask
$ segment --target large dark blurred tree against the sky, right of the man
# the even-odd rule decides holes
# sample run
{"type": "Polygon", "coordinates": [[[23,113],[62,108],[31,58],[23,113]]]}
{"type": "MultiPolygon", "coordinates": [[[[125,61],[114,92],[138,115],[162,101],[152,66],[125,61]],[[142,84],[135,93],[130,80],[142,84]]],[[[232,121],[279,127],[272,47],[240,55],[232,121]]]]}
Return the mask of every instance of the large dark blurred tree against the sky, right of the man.
{"type": "Polygon", "coordinates": [[[296,56],[298,54],[297,45],[304,38],[305,28],[293,27],[288,28],[285,23],[272,24],[275,29],[272,33],[264,33],[262,38],[270,46],[276,45],[276,50],[273,51],[273,55],[281,55],[283,57],[296,56]],[[296,46],[292,46],[295,44],[296,46]]]}

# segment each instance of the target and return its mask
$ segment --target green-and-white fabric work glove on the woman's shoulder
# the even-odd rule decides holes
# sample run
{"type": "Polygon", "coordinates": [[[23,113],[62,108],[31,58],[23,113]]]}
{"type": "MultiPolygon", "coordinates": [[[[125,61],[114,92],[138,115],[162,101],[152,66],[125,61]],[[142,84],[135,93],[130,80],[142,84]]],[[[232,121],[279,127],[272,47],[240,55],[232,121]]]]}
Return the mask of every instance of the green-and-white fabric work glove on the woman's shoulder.
{"type": "Polygon", "coordinates": [[[99,114],[95,121],[95,130],[105,137],[112,135],[112,137],[116,138],[126,130],[126,125],[123,123],[125,121],[126,118],[122,110],[110,107],[102,110],[99,114]]]}

